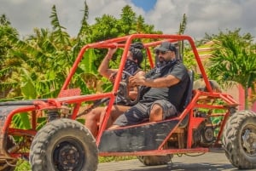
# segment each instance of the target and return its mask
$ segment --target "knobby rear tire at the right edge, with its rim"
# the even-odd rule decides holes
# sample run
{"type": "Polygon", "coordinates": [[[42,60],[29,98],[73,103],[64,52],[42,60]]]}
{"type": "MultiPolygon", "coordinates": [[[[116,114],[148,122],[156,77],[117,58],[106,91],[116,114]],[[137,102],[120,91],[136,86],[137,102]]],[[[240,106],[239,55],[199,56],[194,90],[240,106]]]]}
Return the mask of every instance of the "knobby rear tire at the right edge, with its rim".
{"type": "Polygon", "coordinates": [[[226,123],[222,139],[226,157],[236,168],[256,168],[256,142],[249,134],[256,134],[256,114],[237,111],[226,123]]]}

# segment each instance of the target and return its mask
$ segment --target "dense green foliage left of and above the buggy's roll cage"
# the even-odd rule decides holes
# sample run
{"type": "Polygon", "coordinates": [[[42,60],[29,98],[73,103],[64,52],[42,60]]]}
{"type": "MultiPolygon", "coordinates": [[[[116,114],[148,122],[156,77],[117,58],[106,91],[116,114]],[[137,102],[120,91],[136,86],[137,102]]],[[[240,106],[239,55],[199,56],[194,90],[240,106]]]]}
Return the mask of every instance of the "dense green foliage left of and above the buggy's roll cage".
{"type": "MultiPolygon", "coordinates": [[[[0,70],[1,91],[11,90],[7,98],[21,97],[22,99],[49,98],[55,97],[61,89],[73,61],[79,54],[79,50],[86,43],[98,42],[108,38],[120,37],[136,32],[154,33],[154,26],[145,24],[142,15],[137,16],[130,6],[125,6],[120,14],[120,19],[111,15],[103,14],[96,18],[96,23],[89,26],[87,23],[89,8],[84,2],[84,16],[81,20],[81,27],[78,37],[70,37],[66,28],[61,26],[55,5],[50,14],[52,31],[48,29],[34,29],[34,34],[21,40],[15,29],[9,26],[5,15],[2,16],[2,23],[7,27],[1,27],[3,40],[0,50],[3,50],[4,61],[0,70]],[[4,35],[4,36],[3,36],[4,35]],[[12,48],[1,48],[9,47],[12,48]],[[7,58],[8,57],[8,58],[7,58]],[[20,66],[23,68],[20,70],[20,66]],[[26,71],[26,72],[25,72],[26,71]],[[20,74],[22,77],[20,77],[20,74]],[[28,91],[27,89],[32,91],[28,91]]],[[[83,94],[90,94],[96,91],[95,87],[88,87],[91,79],[97,76],[97,67],[104,57],[106,49],[91,50],[84,54],[78,71],[73,77],[70,87],[81,87],[83,94]]],[[[117,57],[119,51],[114,57],[117,57]]],[[[119,65],[119,61],[113,61],[111,67],[119,65]]],[[[106,80],[102,80],[106,82],[106,80]]],[[[106,82],[104,89],[108,89],[106,82]]],[[[103,84],[104,87],[104,84],[103,84]]]]}

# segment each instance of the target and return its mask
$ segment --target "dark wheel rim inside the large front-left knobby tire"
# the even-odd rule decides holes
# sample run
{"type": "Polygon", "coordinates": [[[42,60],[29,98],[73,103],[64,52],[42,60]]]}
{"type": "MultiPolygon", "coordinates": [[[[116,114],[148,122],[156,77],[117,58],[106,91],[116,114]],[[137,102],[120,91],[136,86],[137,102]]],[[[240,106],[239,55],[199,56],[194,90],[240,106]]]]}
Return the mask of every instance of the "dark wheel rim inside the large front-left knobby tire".
{"type": "Polygon", "coordinates": [[[83,145],[73,139],[56,143],[52,157],[57,170],[82,170],[85,162],[83,145]]]}

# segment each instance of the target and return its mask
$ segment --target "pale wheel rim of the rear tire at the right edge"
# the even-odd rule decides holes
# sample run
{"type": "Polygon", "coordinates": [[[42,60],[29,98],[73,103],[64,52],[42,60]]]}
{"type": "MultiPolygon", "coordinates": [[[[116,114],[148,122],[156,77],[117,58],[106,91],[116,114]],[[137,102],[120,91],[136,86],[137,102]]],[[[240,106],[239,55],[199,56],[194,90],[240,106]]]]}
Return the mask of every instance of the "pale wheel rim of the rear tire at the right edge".
{"type": "Polygon", "coordinates": [[[249,156],[256,155],[256,127],[247,125],[241,132],[241,145],[249,156]]]}

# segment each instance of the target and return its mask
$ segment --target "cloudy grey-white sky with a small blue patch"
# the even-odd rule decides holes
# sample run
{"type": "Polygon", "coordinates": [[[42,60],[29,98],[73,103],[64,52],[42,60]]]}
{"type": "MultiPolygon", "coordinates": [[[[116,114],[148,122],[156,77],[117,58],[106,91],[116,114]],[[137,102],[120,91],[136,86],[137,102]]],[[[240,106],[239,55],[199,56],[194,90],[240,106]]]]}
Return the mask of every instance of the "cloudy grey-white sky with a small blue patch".
{"type": "MultiPolygon", "coordinates": [[[[96,17],[111,14],[119,19],[121,10],[130,5],[145,22],[165,34],[175,34],[187,16],[184,34],[200,40],[219,31],[251,33],[256,37],[256,0],[86,0],[89,6],[89,24],[96,17]]],[[[0,14],[6,14],[12,26],[22,37],[33,33],[33,28],[49,28],[52,6],[56,6],[61,26],[76,36],[83,17],[84,0],[0,0],[0,14]]]]}

